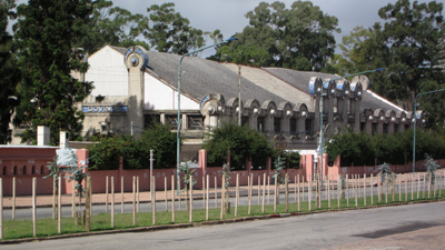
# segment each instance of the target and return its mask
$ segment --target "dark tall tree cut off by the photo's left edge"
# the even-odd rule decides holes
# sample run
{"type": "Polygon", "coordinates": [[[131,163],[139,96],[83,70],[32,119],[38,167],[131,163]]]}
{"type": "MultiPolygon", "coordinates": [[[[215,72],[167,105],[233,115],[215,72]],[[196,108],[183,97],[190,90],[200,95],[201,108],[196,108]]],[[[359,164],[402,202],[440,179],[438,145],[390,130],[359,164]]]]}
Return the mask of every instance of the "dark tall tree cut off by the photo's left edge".
{"type": "Polygon", "coordinates": [[[9,123],[13,107],[18,103],[16,86],[19,74],[14,58],[11,57],[12,36],[7,32],[8,20],[13,18],[14,0],[0,1],[0,144],[10,141],[9,123]]]}

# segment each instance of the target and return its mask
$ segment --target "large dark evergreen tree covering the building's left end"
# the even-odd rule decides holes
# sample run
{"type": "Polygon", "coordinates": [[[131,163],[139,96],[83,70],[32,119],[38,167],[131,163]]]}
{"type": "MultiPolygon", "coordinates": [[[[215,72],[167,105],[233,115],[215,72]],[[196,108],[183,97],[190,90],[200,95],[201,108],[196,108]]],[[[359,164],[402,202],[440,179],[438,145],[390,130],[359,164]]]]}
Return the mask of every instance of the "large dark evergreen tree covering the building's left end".
{"type": "Polygon", "coordinates": [[[83,114],[76,104],[92,84],[71,77],[88,69],[73,40],[85,36],[82,28],[91,12],[89,0],[30,0],[18,7],[16,40],[22,81],[16,119],[29,126],[22,142],[36,140],[37,126],[50,127],[53,144],[60,130],[69,131],[71,140],[80,134],[83,114]]]}

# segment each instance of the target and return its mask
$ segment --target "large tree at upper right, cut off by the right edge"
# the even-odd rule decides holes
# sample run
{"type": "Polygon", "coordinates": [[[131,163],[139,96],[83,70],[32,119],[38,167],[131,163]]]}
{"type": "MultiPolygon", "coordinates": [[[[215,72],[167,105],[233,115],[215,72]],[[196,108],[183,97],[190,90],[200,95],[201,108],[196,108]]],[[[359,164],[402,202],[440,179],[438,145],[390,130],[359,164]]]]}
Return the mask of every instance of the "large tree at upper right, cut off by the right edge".
{"type": "MultiPolygon", "coordinates": [[[[344,38],[340,48],[353,63],[348,70],[386,68],[380,74],[369,76],[370,88],[413,110],[416,94],[445,87],[444,73],[438,67],[444,59],[442,10],[443,3],[411,3],[409,0],[380,8],[378,16],[384,24],[376,22],[369,29],[358,27],[344,38]]],[[[443,123],[443,112],[435,117],[429,126],[438,120],[443,123]]]]}

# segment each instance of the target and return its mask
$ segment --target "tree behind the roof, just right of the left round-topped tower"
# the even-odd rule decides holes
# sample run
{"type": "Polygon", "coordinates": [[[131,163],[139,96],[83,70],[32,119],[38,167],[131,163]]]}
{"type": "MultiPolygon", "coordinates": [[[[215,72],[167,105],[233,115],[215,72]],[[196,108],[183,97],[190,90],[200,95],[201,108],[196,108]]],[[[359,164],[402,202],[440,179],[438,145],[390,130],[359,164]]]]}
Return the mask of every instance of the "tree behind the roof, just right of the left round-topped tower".
{"type": "Polygon", "coordinates": [[[190,27],[190,21],[175,11],[175,3],[147,8],[150,26],[144,36],[159,52],[185,54],[205,46],[202,30],[190,27]]]}

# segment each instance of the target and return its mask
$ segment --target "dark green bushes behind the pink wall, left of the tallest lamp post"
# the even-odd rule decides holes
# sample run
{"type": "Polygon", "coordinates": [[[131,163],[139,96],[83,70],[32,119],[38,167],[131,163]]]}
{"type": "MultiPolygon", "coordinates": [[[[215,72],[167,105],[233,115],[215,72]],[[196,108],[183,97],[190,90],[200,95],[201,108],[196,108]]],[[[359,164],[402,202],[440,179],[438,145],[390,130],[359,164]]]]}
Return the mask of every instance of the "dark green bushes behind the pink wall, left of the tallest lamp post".
{"type": "Polygon", "coordinates": [[[150,150],[154,150],[154,168],[166,169],[176,166],[176,133],[165,124],[154,123],[140,139],[130,136],[102,138],[89,148],[90,169],[118,169],[119,157],[123,158],[125,169],[150,168],[150,150]]]}

